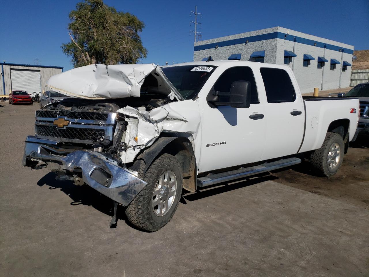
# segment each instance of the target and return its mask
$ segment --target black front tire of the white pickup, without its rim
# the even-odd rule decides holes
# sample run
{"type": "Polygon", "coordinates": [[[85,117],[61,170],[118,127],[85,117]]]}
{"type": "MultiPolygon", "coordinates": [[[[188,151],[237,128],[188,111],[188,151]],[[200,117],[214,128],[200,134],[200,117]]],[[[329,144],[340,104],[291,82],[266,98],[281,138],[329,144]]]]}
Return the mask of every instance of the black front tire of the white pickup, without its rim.
{"type": "Polygon", "coordinates": [[[162,154],[149,166],[142,179],[147,182],[147,185],[125,209],[125,215],[137,228],[155,232],[165,226],[176,212],[182,192],[182,168],[175,157],[169,154],[162,154]],[[153,193],[159,177],[166,171],[172,171],[175,174],[177,181],[176,192],[168,212],[158,216],[152,207],[153,193]]]}

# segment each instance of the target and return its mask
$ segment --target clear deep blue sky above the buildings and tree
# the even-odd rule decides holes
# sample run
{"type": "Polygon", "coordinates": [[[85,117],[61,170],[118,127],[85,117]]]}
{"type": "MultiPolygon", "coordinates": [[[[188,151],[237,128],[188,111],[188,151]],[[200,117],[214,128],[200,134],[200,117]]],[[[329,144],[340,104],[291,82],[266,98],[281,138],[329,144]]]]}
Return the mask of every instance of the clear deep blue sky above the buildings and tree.
{"type": "MultiPolygon", "coordinates": [[[[0,61],[72,68],[60,45],[68,42],[68,14],[77,0],[13,0],[1,3],[0,61]]],[[[369,49],[369,1],[121,1],[105,0],[144,21],[149,54],[142,63],[193,60],[190,11],[202,13],[202,39],[281,26],[369,49]]]]}

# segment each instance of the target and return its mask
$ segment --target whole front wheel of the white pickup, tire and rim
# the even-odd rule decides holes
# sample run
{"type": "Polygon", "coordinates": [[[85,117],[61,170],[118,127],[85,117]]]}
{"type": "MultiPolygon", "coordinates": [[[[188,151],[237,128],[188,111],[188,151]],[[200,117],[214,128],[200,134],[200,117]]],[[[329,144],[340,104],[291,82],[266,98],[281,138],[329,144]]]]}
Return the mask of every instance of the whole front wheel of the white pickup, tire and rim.
{"type": "Polygon", "coordinates": [[[142,178],[147,185],[125,210],[139,229],[155,232],[172,219],[182,192],[182,168],[172,155],[162,154],[142,178]]]}

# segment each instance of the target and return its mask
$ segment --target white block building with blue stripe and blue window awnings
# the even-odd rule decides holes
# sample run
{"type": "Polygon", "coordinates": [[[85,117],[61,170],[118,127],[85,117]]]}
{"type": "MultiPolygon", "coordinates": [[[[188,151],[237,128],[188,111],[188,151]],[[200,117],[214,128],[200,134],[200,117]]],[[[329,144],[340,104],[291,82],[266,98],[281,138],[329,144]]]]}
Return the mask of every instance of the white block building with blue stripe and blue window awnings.
{"type": "Polygon", "coordinates": [[[298,31],[273,27],[197,41],[194,61],[236,60],[289,66],[302,93],[350,84],[354,46],[298,31]]]}

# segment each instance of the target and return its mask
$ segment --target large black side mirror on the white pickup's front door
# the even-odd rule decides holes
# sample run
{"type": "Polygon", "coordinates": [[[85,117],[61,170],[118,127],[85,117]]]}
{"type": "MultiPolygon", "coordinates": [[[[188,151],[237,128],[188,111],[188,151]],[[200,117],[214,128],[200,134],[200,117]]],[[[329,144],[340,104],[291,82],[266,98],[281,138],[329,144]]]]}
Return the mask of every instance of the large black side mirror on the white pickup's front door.
{"type": "Polygon", "coordinates": [[[248,108],[251,103],[251,83],[249,81],[235,81],[231,85],[230,92],[210,92],[207,101],[215,106],[248,108]]]}

